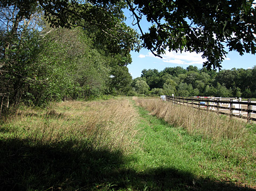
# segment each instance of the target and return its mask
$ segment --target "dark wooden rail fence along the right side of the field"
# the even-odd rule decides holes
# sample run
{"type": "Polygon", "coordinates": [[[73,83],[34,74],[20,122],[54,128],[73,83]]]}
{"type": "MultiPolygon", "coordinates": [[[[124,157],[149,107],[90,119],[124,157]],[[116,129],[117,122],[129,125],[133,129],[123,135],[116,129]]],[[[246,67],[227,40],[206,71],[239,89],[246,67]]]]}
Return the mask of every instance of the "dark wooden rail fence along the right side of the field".
{"type": "Polygon", "coordinates": [[[256,121],[256,101],[251,99],[241,101],[241,99],[236,98],[166,96],[166,100],[172,101],[174,104],[188,105],[218,114],[240,117],[248,122],[256,121]]]}

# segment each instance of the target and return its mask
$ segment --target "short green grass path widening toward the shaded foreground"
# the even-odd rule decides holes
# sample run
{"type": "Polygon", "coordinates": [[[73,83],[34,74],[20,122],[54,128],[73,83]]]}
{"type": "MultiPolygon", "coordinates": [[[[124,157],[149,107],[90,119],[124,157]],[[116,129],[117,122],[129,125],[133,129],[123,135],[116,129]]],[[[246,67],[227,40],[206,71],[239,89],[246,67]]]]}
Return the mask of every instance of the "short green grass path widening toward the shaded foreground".
{"type": "Polygon", "coordinates": [[[238,189],[233,161],[215,152],[210,140],[171,127],[141,107],[137,111],[139,136],[134,144],[139,146],[135,159],[126,164],[139,175],[137,182],[149,190],[238,189]]]}

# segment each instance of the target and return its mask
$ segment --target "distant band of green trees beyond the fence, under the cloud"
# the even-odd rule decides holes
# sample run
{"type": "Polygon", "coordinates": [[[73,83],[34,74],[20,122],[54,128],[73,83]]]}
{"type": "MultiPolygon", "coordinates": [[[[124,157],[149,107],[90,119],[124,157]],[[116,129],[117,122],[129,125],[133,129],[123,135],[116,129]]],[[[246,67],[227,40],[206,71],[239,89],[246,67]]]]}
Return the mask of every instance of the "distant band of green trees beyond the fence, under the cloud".
{"type": "Polygon", "coordinates": [[[132,85],[133,94],[255,98],[255,82],[256,66],[217,72],[190,65],[186,69],[167,67],[160,72],[144,69],[141,77],[135,78],[132,85]]]}

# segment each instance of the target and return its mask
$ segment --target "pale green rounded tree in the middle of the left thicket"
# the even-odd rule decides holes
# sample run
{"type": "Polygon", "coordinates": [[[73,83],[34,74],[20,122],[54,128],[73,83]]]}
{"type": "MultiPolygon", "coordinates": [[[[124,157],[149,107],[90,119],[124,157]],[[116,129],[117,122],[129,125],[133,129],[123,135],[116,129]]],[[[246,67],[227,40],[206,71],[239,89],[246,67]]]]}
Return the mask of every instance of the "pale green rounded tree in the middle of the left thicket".
{"type": "Polygon", "coordinates": [[[27,76],[33,79],[26,92],[34,105],[105,93],[109,82],[108,59],[93,47],[92,39],[82,28],[45,27],[40,35],[40,52],[29,69],[31,76],[27,76]]]}

